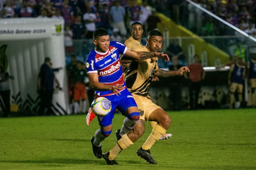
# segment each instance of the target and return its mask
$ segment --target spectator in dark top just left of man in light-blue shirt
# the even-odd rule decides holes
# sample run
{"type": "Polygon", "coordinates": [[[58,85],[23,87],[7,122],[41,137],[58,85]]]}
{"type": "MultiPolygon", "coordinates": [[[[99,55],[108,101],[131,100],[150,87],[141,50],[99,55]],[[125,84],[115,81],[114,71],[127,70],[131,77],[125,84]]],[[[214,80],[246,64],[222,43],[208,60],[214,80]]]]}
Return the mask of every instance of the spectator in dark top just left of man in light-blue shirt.
{"type": "Polygon", "coordinates": [[[109,6],[107,4],[103,4],[102,8],[100,8],[99,11],[99,15],[100,15],[100,28],[104,28],[104,29],[109,29],[110,28],[110,24],[109,24],[109,6]]]}

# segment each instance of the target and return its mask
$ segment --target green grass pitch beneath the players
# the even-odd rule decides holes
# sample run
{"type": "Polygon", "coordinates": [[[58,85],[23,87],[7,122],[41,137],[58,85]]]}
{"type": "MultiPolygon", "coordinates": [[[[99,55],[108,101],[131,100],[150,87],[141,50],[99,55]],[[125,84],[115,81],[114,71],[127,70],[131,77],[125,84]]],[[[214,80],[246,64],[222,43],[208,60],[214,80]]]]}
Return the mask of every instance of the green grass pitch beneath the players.
{"type": "MultiPolygon", "coordinates": [[[[137,157],[151,132],[127,150],[117,166],[106,165],[92,153],[90,138],[99,128],[95,119],[86,126],[85,115],[0,119],[0,169],[256,169],[256,110],[168,112],[173,137],[157,141],[151,155],[157,165],[137,157]]],[[[103,151],[116,143],[115,131],[124,117],[116,114],[113,132],[103,151]]]]}

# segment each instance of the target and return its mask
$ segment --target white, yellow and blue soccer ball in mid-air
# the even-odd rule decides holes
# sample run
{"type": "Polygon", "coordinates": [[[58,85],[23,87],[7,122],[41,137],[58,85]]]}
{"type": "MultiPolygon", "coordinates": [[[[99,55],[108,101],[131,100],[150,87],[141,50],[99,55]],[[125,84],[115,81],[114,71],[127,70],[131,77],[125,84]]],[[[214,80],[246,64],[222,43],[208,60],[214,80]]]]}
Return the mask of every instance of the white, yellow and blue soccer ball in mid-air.
{"type": "Polygon", "coordinates": [[[94,115],[104,117],[110,113],[111,103],[105,97],[98,97],[92,102],[91,108],[94,115]]]}

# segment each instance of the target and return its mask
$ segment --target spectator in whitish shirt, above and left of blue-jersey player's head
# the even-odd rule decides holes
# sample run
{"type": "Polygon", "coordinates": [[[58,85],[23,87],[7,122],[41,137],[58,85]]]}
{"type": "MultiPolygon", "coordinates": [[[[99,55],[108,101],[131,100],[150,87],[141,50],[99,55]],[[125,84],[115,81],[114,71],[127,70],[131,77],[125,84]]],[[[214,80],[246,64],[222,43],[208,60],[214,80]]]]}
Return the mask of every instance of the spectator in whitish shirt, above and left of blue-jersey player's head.
{"type": "Polygon", "coordinates": [[[97,16],[91,12],[91,8],[87,8],[87,12],[83,16],[85,27],[87,30],[86,38],[92,39],[93,32],[96,30],[97,16]]]}

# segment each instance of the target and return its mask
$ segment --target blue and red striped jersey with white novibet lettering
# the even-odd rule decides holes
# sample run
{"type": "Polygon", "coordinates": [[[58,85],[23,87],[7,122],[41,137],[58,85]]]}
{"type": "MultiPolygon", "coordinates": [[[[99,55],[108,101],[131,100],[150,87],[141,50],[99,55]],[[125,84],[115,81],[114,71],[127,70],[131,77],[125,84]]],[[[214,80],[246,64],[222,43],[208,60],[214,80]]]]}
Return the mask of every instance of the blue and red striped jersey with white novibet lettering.
{"type": "MultiPolygon", "coordinates": [[[[105,53],[91,50],[86,60],[86,71],[98,73],[99,82],[106,85],[122,84],[126,88],[119,54],[125,54],[127,47],[121,43],[110,42],[108,51],[105,53]]],[[[112,91],[95,91],[96,97],[114,95],[112,91]]]]}

